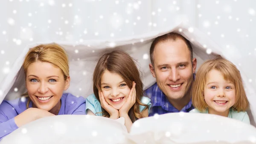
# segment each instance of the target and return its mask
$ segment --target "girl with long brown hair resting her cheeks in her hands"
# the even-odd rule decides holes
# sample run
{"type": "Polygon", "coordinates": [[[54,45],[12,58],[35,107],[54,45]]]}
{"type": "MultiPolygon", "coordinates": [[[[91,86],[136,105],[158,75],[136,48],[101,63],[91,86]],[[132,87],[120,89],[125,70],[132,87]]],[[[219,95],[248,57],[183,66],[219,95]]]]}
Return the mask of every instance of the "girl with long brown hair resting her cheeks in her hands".
{"type": "Polygon", "coordinates": [[[128,53],[112,51],[102,55],[93,73],[93,95],[86,98],[87,115],[125,118],[125,126],[148,117],[150,99],[143,96],[140,72],[128,53]]]}

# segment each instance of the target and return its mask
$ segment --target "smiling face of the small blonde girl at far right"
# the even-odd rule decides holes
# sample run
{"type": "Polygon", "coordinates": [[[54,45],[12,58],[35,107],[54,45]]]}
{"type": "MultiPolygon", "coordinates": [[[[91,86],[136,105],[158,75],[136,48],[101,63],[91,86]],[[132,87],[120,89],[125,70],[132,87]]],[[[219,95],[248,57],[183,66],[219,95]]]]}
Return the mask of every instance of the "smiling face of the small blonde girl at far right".
{"type": "Polygon", "coordinates": [[[204,100],[208,105],[209,113],[227,115],[230,107],[236,102],[235,85],[226,81],[221,72],[212,69],[207,75],[204,86],[204,100]]]}

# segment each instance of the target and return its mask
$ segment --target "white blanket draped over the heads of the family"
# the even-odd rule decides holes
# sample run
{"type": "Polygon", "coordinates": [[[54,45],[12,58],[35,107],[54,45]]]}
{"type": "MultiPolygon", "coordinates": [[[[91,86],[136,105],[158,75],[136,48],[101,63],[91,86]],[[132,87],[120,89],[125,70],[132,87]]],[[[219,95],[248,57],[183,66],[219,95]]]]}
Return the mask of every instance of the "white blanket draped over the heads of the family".
{"type": "MultiPolygon", "coordinates": [[[[207,52],[214,52],[221,54],[225,57],[224,53],[221,53],[221,47],[209,39],[209,37],[200,32],[198,29],[180,24],[177,27],[165,28],[160,31],[152,31],[145,33],[144,35],[137,35],[134,37],[120,38],[116,40],[85,40],[83,44],[76,45],[76,43],[67,43],[64,41],[56,41],[61,45],[68,53],[70,59],[70,88],[67,92],[71,92],[73,95],[81,95],[87,97],[93,93],[92,89],[92,75],[99,55],[112,49],[122,49],[128,52],[133,58],[137,60],[139,69],[142,72],[144,89],[151,86],[155,82],[155,78],[151,76],[148,64],[150,63],[149,48],[155,37],[164,35],[169,32],[177,32],[191,41],[193,47],[194,57],[198,59],[197,68],[212,55],[207,52]]],[[[43,42],[52,43],[52,42],[43,42]]],[[[25,80],[23,69],[21,69],[24,56],[28,52],[29,48],[32,48],[38,44],[33,43],[26,46],[19,58],[16,59],[9,74],[3,81],[0,81],[0,103],[3,99],[11,100],[19,97],[23,92],[26,92],[25,80]],[[17,88],[18,92],[14,89],[17,88]]],[[[229,59],[237,65],[236,60],[229,59]]],[[[246,69],[240,69],[243,79],[247,79],[244,75],[246,69]]],[[[247,98],[250,102],[250,110],[248,114],[250,116],[251,124],[255,126],[256,121],[256,88],[253,88],[250,83],[244,81],[244,85],[247,92],[247,98]]]]}

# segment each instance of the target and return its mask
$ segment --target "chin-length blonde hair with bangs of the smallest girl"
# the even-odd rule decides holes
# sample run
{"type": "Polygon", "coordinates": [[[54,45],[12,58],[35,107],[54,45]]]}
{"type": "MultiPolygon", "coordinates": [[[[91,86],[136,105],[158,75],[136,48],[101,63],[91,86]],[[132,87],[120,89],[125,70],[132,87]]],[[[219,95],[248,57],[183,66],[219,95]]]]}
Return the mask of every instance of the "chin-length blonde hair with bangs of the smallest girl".
{"type": "Polygon", "coordinates": [[[207,109],[208,105],[204,101],[204,86],[206,85],[207,75],[212,69],[221,72],[226,81],[230,81],[235,85],[236,102],[231,108],[238,112],[246,111],[249,107],[249,101],[244,91],[240,72],[233,63],[220,55],[215,59],[205,61],[198,69],[192,86],[193,106],[199,111],[207,109]]]}

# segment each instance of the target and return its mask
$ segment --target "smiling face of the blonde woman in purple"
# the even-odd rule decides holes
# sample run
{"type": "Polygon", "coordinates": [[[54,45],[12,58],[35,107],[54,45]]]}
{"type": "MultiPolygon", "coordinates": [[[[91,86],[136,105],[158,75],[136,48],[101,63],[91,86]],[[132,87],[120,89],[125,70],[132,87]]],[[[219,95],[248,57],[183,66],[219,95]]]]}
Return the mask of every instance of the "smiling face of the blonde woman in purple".
{"type": "Polygon", "coordinates": [[[50,111],[60,102],[69,80],[65,81],[61,69],[52,63],[37,61],[27,69],[26,89],[35,107],[50,111]]]}

